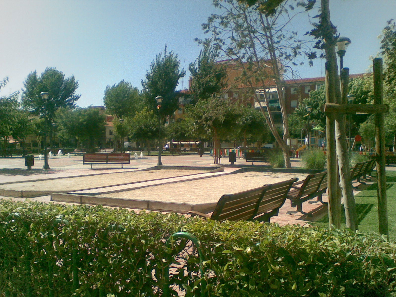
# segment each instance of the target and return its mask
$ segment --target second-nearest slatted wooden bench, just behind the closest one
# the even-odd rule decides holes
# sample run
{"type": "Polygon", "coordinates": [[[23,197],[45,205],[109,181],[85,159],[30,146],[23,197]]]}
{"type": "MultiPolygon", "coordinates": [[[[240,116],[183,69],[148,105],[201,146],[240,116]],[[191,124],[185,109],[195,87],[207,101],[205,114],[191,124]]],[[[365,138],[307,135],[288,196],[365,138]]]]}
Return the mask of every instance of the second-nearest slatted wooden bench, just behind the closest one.
{"type": "Polygon", "coordinates": [[[293,190],[290,190],[290,192],[287,194],[287,199],[290,200],[291,207],[297,207],[297,210],[287,211],[287,214],[300,212],[303,215],[312,216],[310,213],[303,211],[303,202],[318,196],[320,196],[320,200],[322,200],[322,194],[327,188],[327,185],[326,188],[324,188],[325,184],[322,184],[322,181],[326,178],[326,175],[327,171],[310,174],[304,181],[300,181],[292,185],[291,187],[293,190]],[[320,189],[320,187],[322,187],[322,189],[320,189]]]}

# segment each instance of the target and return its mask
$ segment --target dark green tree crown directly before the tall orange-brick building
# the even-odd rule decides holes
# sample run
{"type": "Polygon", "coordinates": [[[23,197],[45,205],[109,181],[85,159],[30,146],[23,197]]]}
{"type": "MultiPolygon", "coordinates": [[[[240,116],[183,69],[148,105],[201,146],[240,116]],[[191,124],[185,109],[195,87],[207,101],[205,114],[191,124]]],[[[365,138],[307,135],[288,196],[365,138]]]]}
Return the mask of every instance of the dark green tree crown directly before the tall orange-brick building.
{"type": "Polygon", "coordinates": [[[226,68],[223,64],[215,63],[217,57],[217,51],[206,44],[194,63],[188,66],[192,75],[191,104],[195,104],[200,99],[209,99],[226,86],[226,68]]]}

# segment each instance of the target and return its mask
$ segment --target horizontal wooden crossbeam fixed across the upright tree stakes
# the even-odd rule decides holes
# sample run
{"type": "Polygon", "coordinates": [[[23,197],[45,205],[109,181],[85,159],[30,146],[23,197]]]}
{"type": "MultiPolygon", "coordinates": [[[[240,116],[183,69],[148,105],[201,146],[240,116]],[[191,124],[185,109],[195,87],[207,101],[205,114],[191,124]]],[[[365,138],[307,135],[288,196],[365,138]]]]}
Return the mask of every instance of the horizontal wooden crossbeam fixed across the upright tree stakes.
{"type": "Polygon", "coordinates": [[[357,112],[381,114],[389,111],[386,104],[335,104],[326,103],[320,107],[320,110],[326,113],[348,113],[355,114],[357,112]]]}

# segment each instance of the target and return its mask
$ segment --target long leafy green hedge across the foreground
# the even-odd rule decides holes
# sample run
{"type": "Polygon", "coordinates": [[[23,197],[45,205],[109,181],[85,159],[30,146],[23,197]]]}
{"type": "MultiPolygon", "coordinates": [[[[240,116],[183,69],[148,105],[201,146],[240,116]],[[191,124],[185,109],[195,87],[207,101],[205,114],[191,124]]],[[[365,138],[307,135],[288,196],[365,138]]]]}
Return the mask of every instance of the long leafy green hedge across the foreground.
{"type": "MultiPolygon", "coordinates": [[[[0,202],[0,296],[161,296],[177,231],[201,241],[210,296],[396,296],[396,246],[376,235],[11,201],[0,202]]],[[[178,261],[190,271],[171,270],[171,284],[198,295],[199,260],[178,261]]]]}

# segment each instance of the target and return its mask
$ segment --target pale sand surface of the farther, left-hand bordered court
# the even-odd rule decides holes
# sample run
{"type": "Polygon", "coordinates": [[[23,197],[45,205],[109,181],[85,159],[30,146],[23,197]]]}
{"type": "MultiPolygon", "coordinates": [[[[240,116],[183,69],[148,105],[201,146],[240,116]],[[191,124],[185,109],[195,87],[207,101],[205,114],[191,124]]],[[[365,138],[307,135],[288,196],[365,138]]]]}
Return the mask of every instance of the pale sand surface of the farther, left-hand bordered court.
{"type": "Polygon", "coordinates": [[[107,173],[92,176],[60,178],[44,181],[32,181],[25,183],[12,183],[0,185],[0,189],[7,190],[78,190],[86,188],[106,187],[109,185],[120,185],[147,181],[152,179],[165,179],[182,175],[205,173],[204,170],[175,170],[161,169],[148,171],[127,171],[122,173],[107,173]]]}

